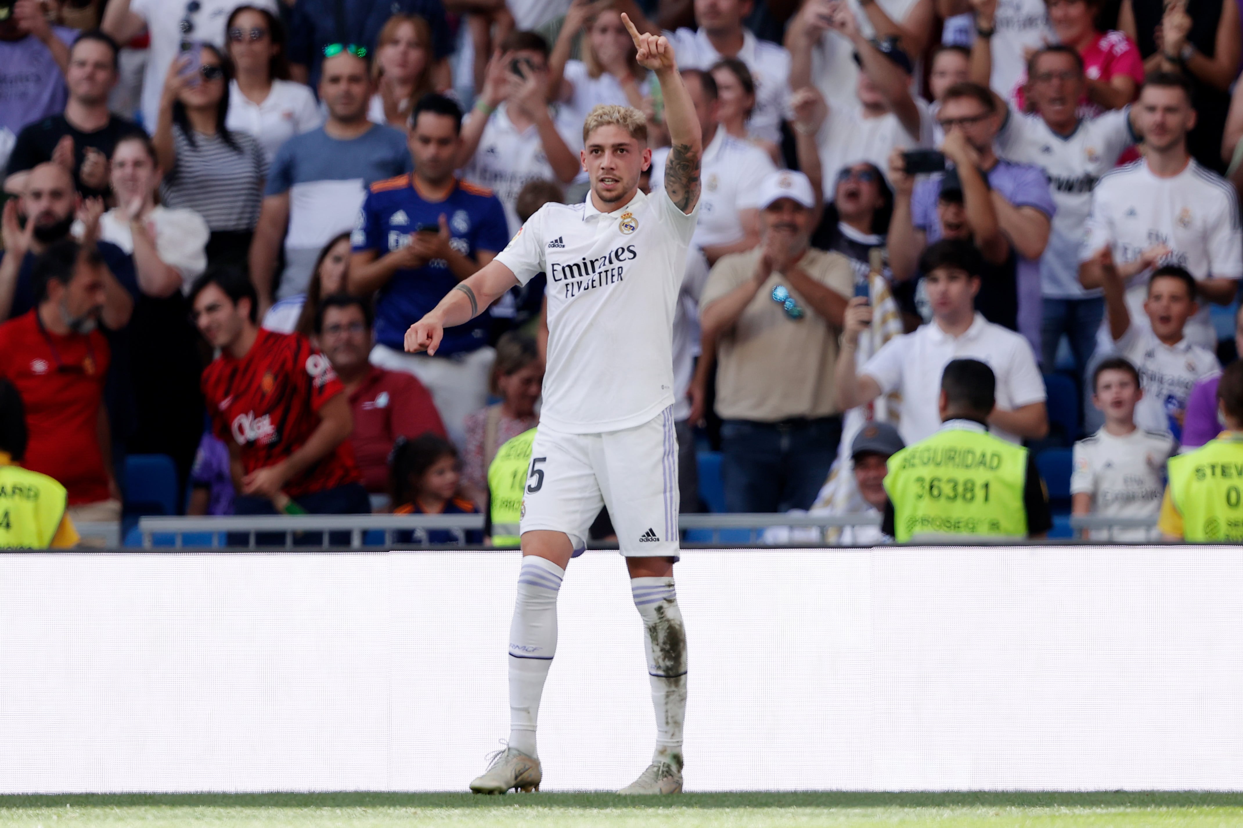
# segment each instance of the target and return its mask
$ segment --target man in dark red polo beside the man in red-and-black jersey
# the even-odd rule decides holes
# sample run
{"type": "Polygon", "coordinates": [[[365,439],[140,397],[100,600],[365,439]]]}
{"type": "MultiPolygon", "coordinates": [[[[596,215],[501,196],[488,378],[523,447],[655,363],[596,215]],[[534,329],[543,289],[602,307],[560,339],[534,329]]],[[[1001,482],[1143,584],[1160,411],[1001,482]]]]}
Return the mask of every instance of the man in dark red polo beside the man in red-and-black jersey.
{"type": "Polygon", "coordinates": [[[367,361],[372,350],[372,305],[337,293],[319,303],[316,344],[346,387],[354,428],[349,441],[372,494],[389,490],[389,452],[398,437],[445,436],[445,426],[423,384],[403,371],[385,371],[367,361]]]}

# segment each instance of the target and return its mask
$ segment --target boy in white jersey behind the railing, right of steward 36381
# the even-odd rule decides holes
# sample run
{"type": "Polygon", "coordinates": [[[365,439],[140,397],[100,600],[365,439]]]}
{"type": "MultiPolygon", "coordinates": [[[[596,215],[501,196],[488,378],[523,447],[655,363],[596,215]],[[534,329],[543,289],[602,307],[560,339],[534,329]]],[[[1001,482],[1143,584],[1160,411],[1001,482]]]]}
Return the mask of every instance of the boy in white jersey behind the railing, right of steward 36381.
{"type": "MultiPolygon", "coordinates": [[[[1140,372],[1121,356],[1111,356],[1093,374],[1093,405],[1105,425],[1075,443],[1070,474],[1070,513],[1109,518],[1155,518],[1161,509],[1166,461],[1175,453],[1168,432],[1135,425],[1136,403],[1145,396],[1140,372]]],[[[1106,529],[1096,540],[1149,540],[1147,529],[1106,529]]]]}

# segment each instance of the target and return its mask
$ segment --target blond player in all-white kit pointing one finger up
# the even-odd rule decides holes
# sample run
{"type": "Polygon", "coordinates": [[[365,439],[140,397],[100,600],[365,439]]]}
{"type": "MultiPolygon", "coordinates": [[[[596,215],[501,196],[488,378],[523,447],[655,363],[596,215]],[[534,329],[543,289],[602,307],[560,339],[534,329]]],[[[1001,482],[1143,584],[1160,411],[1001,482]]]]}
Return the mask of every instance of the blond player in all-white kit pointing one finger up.
{"type": "Polygon", "coordinates": [[[654,71],[672,150],[663,192],[639,176],[651,163],[638,109],[599,106],[583,124],[585,202],[546,204],[492,262],[456,286],[405,334],[435,353],[445,328],[482,313],[515,284],[548,274],[548,372],[521,519],[522,572],[510,628],[508,747],[471,782],[479,793],[539,786],[536,714],[557,649],[557,591],[588,526],[607,505],[626,556],[646,634],[656,709],[651,765],[623,793],[682,787],[686,643],[674,592],[677,444],[674,305],[695,232],[702,135],[665,37],[622,16],[640,66],[654,71]]]}

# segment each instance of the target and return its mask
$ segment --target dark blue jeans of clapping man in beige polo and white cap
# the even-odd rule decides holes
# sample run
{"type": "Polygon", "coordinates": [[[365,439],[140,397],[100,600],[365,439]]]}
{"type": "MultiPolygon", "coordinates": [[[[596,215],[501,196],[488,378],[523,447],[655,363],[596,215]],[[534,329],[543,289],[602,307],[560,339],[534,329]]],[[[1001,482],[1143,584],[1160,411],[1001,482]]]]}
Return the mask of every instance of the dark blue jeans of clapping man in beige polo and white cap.
{"type": "Polygon", "coordinates": [[[721,478],[730,511],[807,509],[829,475],[842,439],[842,418],[721,426],[721,478]]]}

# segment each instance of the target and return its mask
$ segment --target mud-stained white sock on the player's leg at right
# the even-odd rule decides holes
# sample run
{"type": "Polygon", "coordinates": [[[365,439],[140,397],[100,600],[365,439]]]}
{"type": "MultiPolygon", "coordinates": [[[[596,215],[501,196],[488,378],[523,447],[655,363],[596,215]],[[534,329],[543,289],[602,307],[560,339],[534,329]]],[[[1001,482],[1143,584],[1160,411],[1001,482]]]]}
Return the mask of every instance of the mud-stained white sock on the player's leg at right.
{"type": "Polygon", "coordinates": [[[686,631],[674,578],[630,578],[630,592],[643,617],[651,705],[656,709],[656,750],[651,761],[669,762],[680,771],[686,719],[686,631]]]}

